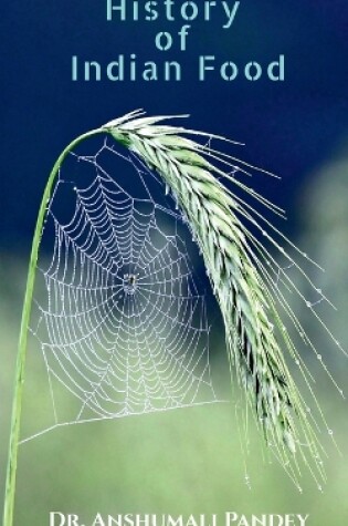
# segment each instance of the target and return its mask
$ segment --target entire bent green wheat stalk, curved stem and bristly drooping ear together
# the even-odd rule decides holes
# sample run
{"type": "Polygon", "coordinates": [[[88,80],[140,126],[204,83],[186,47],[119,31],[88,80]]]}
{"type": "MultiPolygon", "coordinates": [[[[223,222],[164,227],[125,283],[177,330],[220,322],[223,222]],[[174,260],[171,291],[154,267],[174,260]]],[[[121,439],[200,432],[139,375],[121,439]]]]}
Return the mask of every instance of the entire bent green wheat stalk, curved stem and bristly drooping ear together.
{"type": "MultiPolygon", "coordinates": [[[[299,272],[304,276],[305,274],[264,227],[273,229],[273,233],[281,236],[283,240],[286,238],[273,228],[252,205],[244,202],[238,193],[228,189],[220,179],[228,179],[236,185],[239,190],[246,192],[275,214],[282,215],[282,210],[233,177],[233,172],[239,171],[247,174],[249,169],[254,169],[253,166],[215,151],[209,144],[200,144],[192,137],[226,141],[225,138],[183,127],[164,125],[162,121],[166,118],[169,117],[146,117],[141,111],[136,111],[84,133],[64,148],[48,178],[33,236],[23,302],[3,526],[13,525],[28,327],[48,203],[66,156],[80,143],[97,134],[109,134],[118,143],[134,152],[149,169],[154,169],[160,175],[171,190],[202,252],[224,321],[231,373],[235,372],[242,392],[253,410],[257,426],[263,430],[270,448],[297,485],[300,473],[298,458],[302,458],[308,466],[319,487],[320,481],[325,479],[320,460],[323,448],[315,429],[317,424],[314,416],[308,413],[308,408],[292,379],[284,360],[283,349],[287,349],[289,355],[296,361],[307,388],[313,394],[323,423],[328,432],[329,429],[312,391],[310,373],[289,338],[278,314],[277,305],[282,306],[304,342],[313,349],[317,358],[320,357],[286,298],[274,282],[274,272],[277,272],[278,278],[289,289],[295,290],[304,300],[305,298],[267,248],[246,228],[246,223],[261,230],[265,238],[280,249],[299,272]],[[191,135],[191,138],[188,138],[187,135],[191,135]]],[[[228,142],[231,143],[231,141],[228,142]]],[[[292,245],[292,248],[296,247],[292,245]]],[[[308,278],[306,277],[306,279],[308,278]]],[[[310,285],[313,283],[310,282],[310,285]]],[[[321,292],[320,297],[326,299],[321,292]]],[[[321,319],[313,309],[312,311],[341,349],[321,319]]],[[[331,380],[335,383],[333,378],[331,380]]],[[[342,391],[339,391],[344,395],[342,391]]]]}

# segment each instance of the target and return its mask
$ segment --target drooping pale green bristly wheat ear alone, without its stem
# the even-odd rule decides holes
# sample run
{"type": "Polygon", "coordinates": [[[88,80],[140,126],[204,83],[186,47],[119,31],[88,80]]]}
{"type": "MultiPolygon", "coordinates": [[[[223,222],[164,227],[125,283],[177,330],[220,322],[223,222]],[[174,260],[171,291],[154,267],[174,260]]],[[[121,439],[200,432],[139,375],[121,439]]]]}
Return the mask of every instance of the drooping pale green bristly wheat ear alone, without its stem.
{"type": "MultiPolygon", "coordinates": [[[[165,118],[168,117],[146,117],[141,112],[133,112],[106,124],[104,130],[156,171],[170,188],[203,256],[224,321],[231,369],[266,443],[297,484],[299,456],[320,485],[319,481],[325,478],[321,447],[282,347],[296,359],[303,374],[305,365],[277,313],[276,293],[272,292],[270,274],[261,262],[263,248],[259,247],[259,256],[255,255],[252,236],[238,217],[240,213],[250,219],[247,208],[219,181],[221,176],[231,179],[229,174],[212,163],[214,158],[225,164],[230,161],[182,136],[204,136],[203,133],[162,125],[165,118]]],[[[246,167],[242,165],[241,169],[246,167]]],[[[256,193],[250,193],[272,207],[256,193]]]]}

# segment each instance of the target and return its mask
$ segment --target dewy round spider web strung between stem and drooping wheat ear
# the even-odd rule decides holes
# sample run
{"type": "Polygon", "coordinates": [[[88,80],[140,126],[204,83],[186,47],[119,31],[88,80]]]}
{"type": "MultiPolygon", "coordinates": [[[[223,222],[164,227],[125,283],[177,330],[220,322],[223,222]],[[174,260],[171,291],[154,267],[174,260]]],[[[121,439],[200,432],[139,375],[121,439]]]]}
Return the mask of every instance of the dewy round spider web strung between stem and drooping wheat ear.
{"type": "Polygon", "coordinates": [[[168,202],[155,175],[107,141],[61,167],[41,245],[51,257],[38,265],[42,290],[31,323],[52,427],[217,401],[205,296],[187,227],[168,202]],[[133,169],[115,177],[125,164],[133,169]],[[77,401],[66,421],[61,389],[77,401]]]}

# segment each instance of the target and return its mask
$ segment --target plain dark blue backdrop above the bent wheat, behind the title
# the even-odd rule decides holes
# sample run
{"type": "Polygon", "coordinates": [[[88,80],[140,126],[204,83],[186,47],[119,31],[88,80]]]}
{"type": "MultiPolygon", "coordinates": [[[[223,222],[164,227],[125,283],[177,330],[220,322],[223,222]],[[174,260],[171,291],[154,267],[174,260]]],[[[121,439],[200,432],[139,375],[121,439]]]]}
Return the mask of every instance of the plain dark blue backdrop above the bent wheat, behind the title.
{"type": "MultiPolygon", "coordinates": [[[[181,1],[177,1],[178,4],[181,1]]],[[[198,3],[200,1],[198,0],[198,3]]],[[[12,1],[1,27],[0,244],[27,252],[48,174],[76,135],[125,112],[190,113],[190,127],[246,143],[234,154],[282,175],[264,194],[287,209],[303,184],[347,133],[346,0],[242,0],[230,30],[221,18],[192,22],[186,53],[155,49],[168,22],[106,22],[105,1],[12,1]],[[119,53],[182,62],[182,83],[71,81],[71,56],[108,62],[119,53]],[[232,83],[190,73],[198,54],[245,64],[286,58],[286,81],[232,83]]],[[[218,12],[218,9],[217,9],[218,12]]],[[[294,217],[292,218],[294,219],[294,217]]]]}

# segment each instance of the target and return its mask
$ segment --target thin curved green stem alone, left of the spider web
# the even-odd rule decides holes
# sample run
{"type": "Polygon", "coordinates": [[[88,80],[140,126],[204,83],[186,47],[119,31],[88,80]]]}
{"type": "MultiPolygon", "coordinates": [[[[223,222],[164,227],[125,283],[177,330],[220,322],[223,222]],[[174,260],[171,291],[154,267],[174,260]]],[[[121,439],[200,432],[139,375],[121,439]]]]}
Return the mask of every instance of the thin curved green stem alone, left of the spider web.
{"type": "Polygon", "coordinates": [[[15,380],[14,380],[14,394],[13,394],[13,405],[12,405],[12,420],[11,420],[11,434],[10,434],[10,445],[9,445],[9,460],[8,460],[8,470],[7,470],[7,481],[6,481],[6,494],[4,494],[4,508],[3,508],[3,526],[13,525],[13,509],[14,509],[14,496],[15,496],[15,474],[17,474],[17,463],[18,463],[18,446],[20,440],[20,426],[21,426],[21,411],[22,411],[22,395],[23,395],[23,384],[24,384],[24,369],[25,369],[25,355],[27,355],[27,340],[28,340],[28,326],[30,322],[33,290],[35,282],[35,270],[39,255],[39,247],[41,241],[43,221],[48,210],[48,203],[50,200],[52,188],[55,183],[56,175],[59,169],[64,162],[68,153],[82,143],[84,140],[97,135],[99,133],[107,133],[106,130],[96,128],[89,132],[80,135],[74,141],[72,141],[66,148],[61,153],[56,159],[52,172],[49,176],[46,183],[42,202],[39,209],[39,215],[36,219],[35,231],[33,236],[33,243],[31,248],[31,257],[28,270],[27,278],[27,289],[25,297],[23,302],[22,311],[22,321],[19,337],[19,347],[18,347],[18,358],[15,365],[15,380]]]}

